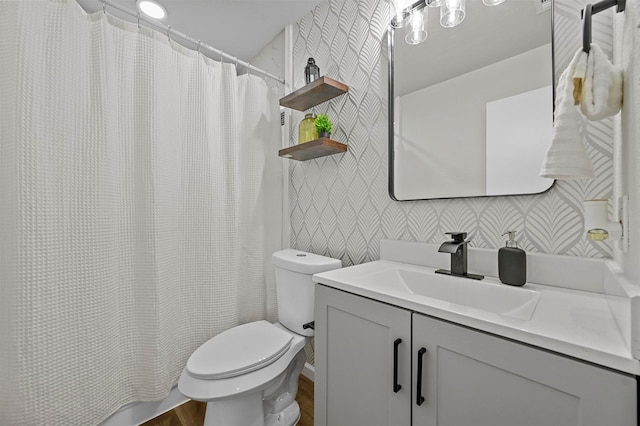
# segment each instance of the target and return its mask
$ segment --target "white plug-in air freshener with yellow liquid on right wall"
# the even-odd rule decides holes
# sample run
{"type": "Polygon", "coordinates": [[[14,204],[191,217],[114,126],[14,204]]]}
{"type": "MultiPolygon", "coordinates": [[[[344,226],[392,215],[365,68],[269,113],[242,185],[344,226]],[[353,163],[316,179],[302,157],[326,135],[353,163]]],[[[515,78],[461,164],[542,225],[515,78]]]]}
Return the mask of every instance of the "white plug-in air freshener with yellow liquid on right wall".
{"type": "Polygon", "coordinates": [[[609,200],[596,199],[585,201],[583,203],[584,229],[587,232],[587,238],[591,241],[604,241],[609,238],[614,241],[619,241],[620,248],[626,253],[628,250],[628,241],[624,231],[624,225],[628,222],[626,218],[628,203],[628,196],[620,197],[617,220],[610,221],[607,211],[609,200]]]}

